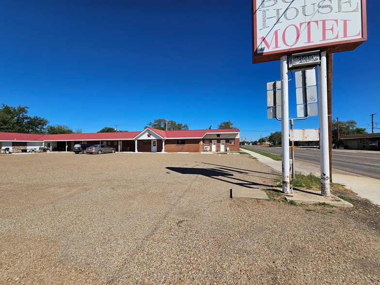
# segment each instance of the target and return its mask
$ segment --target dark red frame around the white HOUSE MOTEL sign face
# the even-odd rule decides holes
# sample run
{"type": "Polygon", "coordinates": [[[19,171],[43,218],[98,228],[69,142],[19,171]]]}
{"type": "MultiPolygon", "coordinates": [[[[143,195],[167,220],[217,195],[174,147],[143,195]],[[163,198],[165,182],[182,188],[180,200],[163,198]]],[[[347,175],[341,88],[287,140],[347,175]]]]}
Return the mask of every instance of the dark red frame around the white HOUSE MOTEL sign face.
{"type": "MultiPolygon", "coordinates": [[[[292,53],[297,52],[307,52],[307,51],[313,51],[316,49],[324,50],[327,53],[334,53],[334,52],[341,52],[341,51],[348,51],[348,50],[354,50],[356,47],[361,45],[367,40],[367,17],[366,17],[366,0],[359,0],[359,3],[361,3],[361,9],[362,9],[362,37],[357,39],[347,39],[347,40],[341,40],[341,41],[335,41],[330,43],[322,43],[322,44],[316,44],[316,45],[310,45],[310,46],[303,46],[303,47],[286,47],[286,48],[278,48],[278,50],[275,51],[268,51],[268,52],[257,52],[258,49],[258,42],[257,42],[257,4],[258,6],[262,5],[263,0],[251,0],[252,1],[252,63],[264,63],[264,62],[270,62],[270,61],[278,61],[280,60],[281,56],[284,55],[291,55],[292,53]]],[[[273,2],[281,1],[281,0],[272,0],[273,2]]],[[[318,1],[317,1],[318,2],[318,1]]],[[[303,1],[302,1],[303,3],[303,1]]],[[[290,5],[289,5],[290,6],[290,5]]],[[[270,7],[269,7],[270,8],[270,7]]],[[[291,20],[288,22],[290,25],[294,25],[291,20]]],[[[274,24],[273,27],[277,25],[274,24]]],[[[274,29],[274,28],[272,28],[274,29]]],[[[279,35],[280,37],[280,35],[279,35]]]]}

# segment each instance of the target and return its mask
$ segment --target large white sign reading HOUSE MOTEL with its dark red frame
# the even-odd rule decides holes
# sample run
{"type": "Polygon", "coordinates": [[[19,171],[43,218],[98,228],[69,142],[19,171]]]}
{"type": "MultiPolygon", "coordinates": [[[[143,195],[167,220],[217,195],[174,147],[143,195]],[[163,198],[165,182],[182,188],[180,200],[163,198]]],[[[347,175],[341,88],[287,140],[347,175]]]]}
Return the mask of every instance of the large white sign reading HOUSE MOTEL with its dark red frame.
{"type": "Polygon", "coordinates": [[[365,0],[252,0],[252,7],[253,63],[352,50],[367,38],[365,0]]]}

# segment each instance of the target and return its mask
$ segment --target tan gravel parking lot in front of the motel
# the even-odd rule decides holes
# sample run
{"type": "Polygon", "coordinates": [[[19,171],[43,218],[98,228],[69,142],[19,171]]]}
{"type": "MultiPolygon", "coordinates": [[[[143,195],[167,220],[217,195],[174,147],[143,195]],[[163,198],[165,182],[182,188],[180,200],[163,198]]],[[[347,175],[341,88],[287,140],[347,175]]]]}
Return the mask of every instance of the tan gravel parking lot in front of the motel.
{"type": "Polygon", "coordinates": [[[281,179],[246,155],[0,155],[0,169],[0,284],[380,283],[379,207],[230,199],[281,179]]]}

